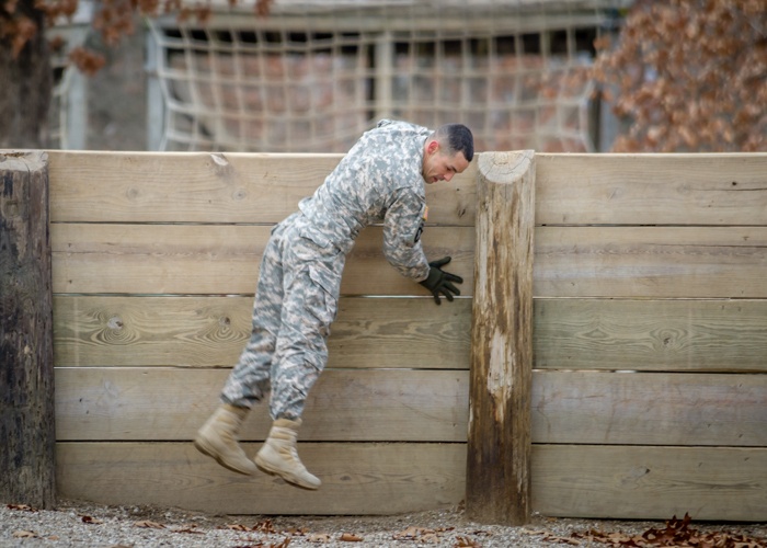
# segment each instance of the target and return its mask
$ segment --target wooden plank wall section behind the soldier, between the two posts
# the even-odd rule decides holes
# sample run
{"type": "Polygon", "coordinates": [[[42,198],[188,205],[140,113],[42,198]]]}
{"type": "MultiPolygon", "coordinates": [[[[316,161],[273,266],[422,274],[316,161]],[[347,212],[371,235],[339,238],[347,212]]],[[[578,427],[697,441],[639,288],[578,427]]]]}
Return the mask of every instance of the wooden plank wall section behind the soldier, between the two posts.
{"type": "MultiPolygon", "coordinates": [[[[271,227],[340,156],[51,153],[62,496],[228,513],[393,513],[463,496],[472,167],[430,193],[424,246],[468,297],[437,307],[360,236],[299,450],[323,486],[229,472],[192,446],[250,334],[271,227]],[[381,298],[364,298],[376,295],[381,298]],[[407,298],[392,298],[404,296],[407,298]]],[[[264,439],[266,408],[244,432],[264,439]]]]}

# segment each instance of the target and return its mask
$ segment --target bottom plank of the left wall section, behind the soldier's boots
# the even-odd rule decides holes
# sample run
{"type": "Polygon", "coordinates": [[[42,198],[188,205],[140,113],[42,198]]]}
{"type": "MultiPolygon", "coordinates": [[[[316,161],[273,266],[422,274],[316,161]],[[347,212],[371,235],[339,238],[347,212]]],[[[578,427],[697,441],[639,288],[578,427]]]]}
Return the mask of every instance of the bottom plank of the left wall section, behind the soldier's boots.
{"type": "MultiPolygon", "coordinates": [[[[249,455],[260,444],[244,444],[249,455]]],[[[458,504],[466,444],[298,443],[318,491],[230,472],[191,443],[58,443],[57,493],[226,514],[397,514],[458,504]]]]}

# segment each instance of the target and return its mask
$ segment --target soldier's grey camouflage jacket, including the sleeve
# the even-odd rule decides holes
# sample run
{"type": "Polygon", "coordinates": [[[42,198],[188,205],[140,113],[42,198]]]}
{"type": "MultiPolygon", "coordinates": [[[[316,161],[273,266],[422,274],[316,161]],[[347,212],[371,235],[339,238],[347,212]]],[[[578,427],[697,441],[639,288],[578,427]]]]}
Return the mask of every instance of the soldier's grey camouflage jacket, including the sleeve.
{"type": "Polygon", "coordinates": [[[324,183],[298,207],[317,229],[348,253],[359,231],[384,224],[384,254],[402,275],[428,275],[421,246],[426,220],[423,147],[431,129],[384,119],[366,132],[324,183]]]}

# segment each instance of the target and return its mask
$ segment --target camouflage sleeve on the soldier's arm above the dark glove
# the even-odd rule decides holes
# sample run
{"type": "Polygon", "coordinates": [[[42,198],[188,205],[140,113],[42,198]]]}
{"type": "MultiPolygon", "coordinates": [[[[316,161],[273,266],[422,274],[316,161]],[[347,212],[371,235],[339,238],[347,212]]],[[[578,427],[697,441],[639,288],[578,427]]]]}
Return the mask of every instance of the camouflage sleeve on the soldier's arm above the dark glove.
{"type": "Polygon", "coordinates": [[[384,218],[384,255],[400,274],[415,282],[428,276],[428,261],[421,246],[426,202],[409,189],[400,189],[384,218]]]}

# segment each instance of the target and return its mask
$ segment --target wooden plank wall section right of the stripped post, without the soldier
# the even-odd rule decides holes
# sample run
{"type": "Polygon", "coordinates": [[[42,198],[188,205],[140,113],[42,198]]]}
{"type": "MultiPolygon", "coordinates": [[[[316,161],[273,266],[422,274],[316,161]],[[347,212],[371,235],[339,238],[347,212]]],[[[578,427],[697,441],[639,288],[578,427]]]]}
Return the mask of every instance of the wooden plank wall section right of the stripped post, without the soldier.
{"type": "Polygon", "coordinates": [[[767,155],[536,159],[534,507],[767,520],[767,155]]]}

